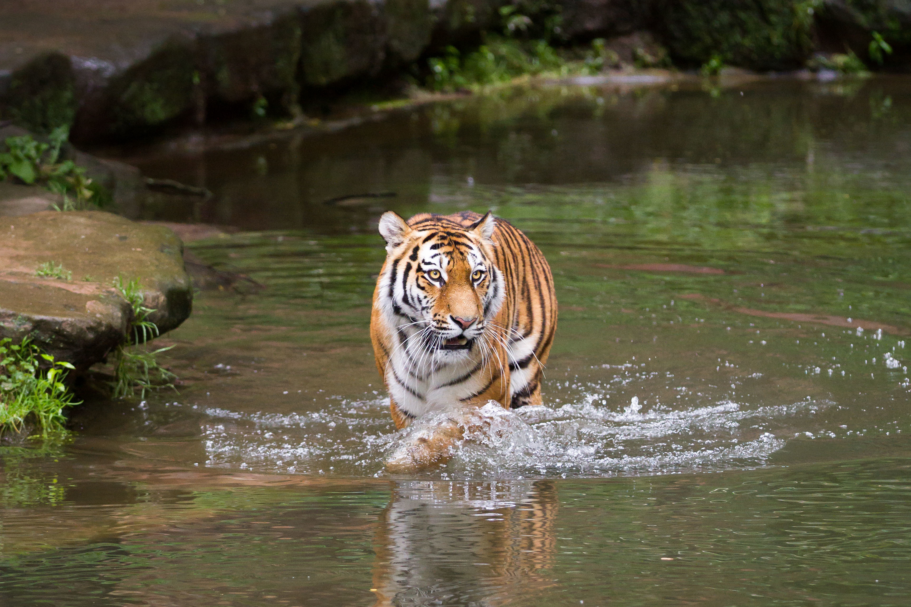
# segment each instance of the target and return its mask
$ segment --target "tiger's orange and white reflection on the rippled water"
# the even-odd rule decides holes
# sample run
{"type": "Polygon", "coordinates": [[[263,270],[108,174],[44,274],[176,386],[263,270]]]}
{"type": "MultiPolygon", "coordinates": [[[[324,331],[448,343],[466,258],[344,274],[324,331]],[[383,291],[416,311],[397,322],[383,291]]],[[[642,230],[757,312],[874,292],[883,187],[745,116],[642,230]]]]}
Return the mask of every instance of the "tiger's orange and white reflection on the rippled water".
{"type": "Polygon", "coordinates": [[[378,523],[376,605],[505,605],[554,585],[551,481],[396,483],[378,523]]]}

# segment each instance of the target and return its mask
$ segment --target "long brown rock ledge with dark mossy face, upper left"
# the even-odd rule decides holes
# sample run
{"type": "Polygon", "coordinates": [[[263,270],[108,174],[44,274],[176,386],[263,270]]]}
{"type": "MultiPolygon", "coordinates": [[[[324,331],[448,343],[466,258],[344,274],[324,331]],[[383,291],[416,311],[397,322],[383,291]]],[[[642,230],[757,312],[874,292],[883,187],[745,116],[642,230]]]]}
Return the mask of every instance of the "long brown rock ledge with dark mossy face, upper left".
{"type": "MultiPolygon", "coordinates": [[[[480,2],[481,0],[470,0],[480,2]]],[[[128,139],[209,106],[300,116],[302,86],[376,76],[430,43],[427,0],[0,4],[0,106],[38,133],[128,139]]]]}

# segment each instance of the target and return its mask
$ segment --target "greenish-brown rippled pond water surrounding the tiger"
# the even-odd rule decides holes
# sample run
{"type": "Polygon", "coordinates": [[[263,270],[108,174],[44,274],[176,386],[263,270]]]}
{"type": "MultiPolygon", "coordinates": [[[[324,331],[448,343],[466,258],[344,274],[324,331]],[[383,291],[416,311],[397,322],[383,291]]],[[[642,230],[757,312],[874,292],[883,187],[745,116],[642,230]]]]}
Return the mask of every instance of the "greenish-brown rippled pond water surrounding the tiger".
{"type": "Polygon", "coordinates": [[[179,394],[5,449],[0,600],[906,605],[909,151],[911,80],[875,78],[508,89],[150,159],[216,196],[138,216],[237,228],[189,249],[265,288],[160,339],[179,394]],[[493,209],[560,302],[545,407],[412,477],[368,336],[389,208],[493,209]]]}

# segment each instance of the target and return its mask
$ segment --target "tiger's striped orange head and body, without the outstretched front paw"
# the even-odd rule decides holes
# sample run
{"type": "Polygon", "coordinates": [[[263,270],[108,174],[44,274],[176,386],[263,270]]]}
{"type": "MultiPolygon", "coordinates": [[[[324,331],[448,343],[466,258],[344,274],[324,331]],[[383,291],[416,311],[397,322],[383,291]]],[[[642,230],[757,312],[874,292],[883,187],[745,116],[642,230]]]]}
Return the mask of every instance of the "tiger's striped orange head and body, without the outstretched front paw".
{"type": "Polygon", "coordinates": [[[557,298],[538,248],[490,213],[390,211],[380,232],[370,333],[396,427],[458,404],[540,404],[557,298]]]}

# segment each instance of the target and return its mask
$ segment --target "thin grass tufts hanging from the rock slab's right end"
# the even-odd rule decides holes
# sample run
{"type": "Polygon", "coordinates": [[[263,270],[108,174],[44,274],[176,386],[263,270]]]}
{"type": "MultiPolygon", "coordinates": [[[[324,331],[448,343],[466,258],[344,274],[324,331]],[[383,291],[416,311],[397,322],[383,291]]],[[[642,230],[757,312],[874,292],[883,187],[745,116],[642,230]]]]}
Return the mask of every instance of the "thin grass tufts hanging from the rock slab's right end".
{"type": "Polygon", "coordinates": [[[113,398],[122,399],[132,396],[136,390],[141,390],[140,398],[145,398],[146,391],[149,389],[174,389],[173,380],[177,379],[177,376],[168,369],[160,367],[155,358],[173,346],[153,351],[140,348],[127,349],[128,341],[145,344],[149,339],[159,335],[158,326],[148,319],[148,315],[155,309],[145,306],[145,296],[142,294],[138,278],[125,282],[118,276],[114,278],[114,288],[132,307],[133,320],[130,323],[128,334],[124,336],[124,343],[121,343],[114,352],[114,379],[110,382],[113,398]]]}

